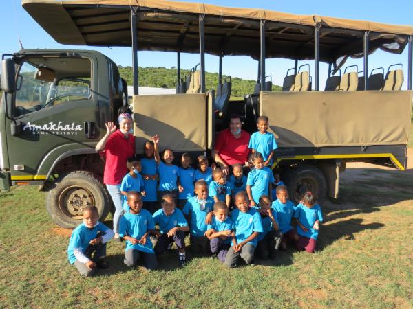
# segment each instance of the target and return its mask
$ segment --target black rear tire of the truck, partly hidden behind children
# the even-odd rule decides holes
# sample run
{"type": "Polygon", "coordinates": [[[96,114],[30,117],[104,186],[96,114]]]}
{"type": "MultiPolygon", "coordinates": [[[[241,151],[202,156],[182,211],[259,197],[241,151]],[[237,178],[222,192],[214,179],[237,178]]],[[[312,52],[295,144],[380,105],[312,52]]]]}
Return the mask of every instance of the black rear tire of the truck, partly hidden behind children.
{"type": "Polygon", "coordinates": [[[293,170],[286,171],[286,185],[290,200],[296,205],[301,200],[301,196],[308,191],[313,192],[319,201],[326,198],[326,177],[313,165],[298,165],[293,170]]]}

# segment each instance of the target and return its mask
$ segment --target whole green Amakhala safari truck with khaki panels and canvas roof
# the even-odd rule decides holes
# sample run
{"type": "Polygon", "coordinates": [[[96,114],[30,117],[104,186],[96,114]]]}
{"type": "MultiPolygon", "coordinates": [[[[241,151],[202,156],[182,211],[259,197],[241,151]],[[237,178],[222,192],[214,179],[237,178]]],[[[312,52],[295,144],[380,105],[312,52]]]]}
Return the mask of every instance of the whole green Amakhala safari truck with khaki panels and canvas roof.
{"type": "MultiPolygon", "coordinates": [[[[306,190],[337,198],[339,172],[348,161],[406,167],[413,27],[154,0],[22,5],[59,43],[131,47],[137,153],[156,133],[160,148],[209,153],[215,134],[238,113],[250,133],[259,115],[271,119],[269,130],[279,145],[272,168],[294,201],[306,190]],[[407,90],[401,90],[400,65],[369,68],[368,58],[377,49],[401,54],[406,47],[407,90]],[[177,53],[176,94],[139,95],[138,50],[177,53]],[[200,55],[189,76],[180,73],[183,53],[200,55]],[[219,59],[220,78],[212,90],[205,84],[206,53],[219,59]],[[231,55],[258,62],[256,87],[242,100],[231,100],[231,77],[222,72],[224,57],[231,55]],[[351,57],[363,57],[362,70],[346,67],[351,57]],[[269,58],[294,60],[283,91],[272,91],[271,74],[284,72],[268,72],[269,58]],[[313,76],[301,60],[314,60],[313,76]],[[328,63],[324,89],[320,61],[328,63]]],[[[21,50],[2,56],[1,87],[1,189],[41,185],[47,210],[63,227],[77,225],[85,205],[96,205],[105,218],[112,203],[101,182],[104,162],[94,148],[105,122],[127,104],[115,63],[86,50],[21,50]]]]}

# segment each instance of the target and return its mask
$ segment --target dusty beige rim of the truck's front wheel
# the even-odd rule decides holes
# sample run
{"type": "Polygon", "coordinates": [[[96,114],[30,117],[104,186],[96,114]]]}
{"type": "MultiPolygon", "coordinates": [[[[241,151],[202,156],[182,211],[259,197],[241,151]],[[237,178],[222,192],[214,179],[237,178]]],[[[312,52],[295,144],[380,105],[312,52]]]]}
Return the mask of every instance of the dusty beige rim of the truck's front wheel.
{"type": "Polygon", "coordinates": [[[59,194],[59,208],[66,216],[80,220],[83,218],[83,208],[87,205],[95,205],[95,199],[89,190],[84,187],[72,185],[66,187],[59,194]]]}

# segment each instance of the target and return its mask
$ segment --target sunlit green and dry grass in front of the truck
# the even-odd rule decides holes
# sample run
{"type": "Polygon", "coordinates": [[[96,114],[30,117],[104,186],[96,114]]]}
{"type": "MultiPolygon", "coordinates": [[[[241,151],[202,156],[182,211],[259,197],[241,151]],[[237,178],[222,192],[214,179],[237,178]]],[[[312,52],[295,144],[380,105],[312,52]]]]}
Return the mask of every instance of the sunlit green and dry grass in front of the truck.
{"type": "Polygon", "coordinates": [[[47,216],[44,193],[12,187],[0,194],[0,307],[412,307],[412,175],[386,177],[389,194],[382,174],[343,181],[340,200],[321,205],[314,255],[290,249],[229,270],[210,258],[178,268],[173,250],[148,272],[124,266],[124,244],[110,242],[111,267],[87,279],[68,264],[69,236],[47,216]]]}

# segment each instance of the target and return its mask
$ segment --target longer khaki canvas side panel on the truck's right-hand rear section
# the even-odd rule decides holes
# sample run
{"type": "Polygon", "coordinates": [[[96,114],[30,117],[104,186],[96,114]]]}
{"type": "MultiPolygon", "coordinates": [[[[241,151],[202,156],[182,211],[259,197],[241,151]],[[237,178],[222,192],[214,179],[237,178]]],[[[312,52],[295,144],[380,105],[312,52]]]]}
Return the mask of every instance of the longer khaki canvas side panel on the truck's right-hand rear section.
{"type": "Polygon", "coordinates": [[[282,147],[407,144],[412,91],[260,93],[282,147]]]}

